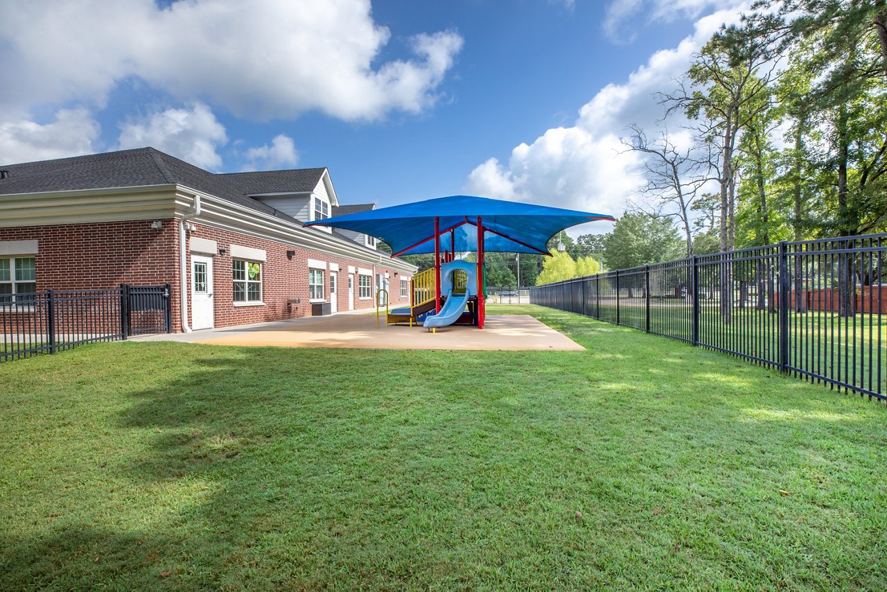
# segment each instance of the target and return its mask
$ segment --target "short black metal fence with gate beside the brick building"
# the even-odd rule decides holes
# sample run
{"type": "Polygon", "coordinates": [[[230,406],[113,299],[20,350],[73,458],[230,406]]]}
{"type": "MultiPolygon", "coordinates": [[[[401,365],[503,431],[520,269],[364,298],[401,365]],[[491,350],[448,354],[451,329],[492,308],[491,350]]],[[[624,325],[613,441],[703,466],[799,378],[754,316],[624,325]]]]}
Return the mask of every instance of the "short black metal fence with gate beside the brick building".
{"type": "Polygon", "coordinates": [[[0,362],[172,328],[169,284],[45,290],[2,298],[0,362]]]}

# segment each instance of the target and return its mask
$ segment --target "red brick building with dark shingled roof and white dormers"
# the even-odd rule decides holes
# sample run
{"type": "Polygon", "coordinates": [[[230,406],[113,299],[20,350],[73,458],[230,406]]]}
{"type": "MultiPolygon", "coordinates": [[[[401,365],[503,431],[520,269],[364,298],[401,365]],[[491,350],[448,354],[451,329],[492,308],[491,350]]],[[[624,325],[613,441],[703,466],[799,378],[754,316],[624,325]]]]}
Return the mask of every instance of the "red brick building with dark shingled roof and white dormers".
{"type": "Polygon", "coordinates": [[[326,169],[214,174],[148,147],[0,171],[0,298],[169,283],[176,331],[409,302],[412,264],[302,225],[373,207],[341,206],[326,169]]]}

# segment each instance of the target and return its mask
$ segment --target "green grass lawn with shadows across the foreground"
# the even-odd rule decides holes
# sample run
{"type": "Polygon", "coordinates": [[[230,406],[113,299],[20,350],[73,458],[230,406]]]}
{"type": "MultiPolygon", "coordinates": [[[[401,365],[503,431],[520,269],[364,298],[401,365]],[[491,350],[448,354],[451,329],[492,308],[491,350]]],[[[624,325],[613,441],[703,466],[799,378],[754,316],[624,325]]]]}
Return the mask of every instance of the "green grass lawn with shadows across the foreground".
{"type": "Polygon", "coordinates": [[[887,588],[883,405],[490,312],[588,349],[3,364],[0,588],[887,588]]]}

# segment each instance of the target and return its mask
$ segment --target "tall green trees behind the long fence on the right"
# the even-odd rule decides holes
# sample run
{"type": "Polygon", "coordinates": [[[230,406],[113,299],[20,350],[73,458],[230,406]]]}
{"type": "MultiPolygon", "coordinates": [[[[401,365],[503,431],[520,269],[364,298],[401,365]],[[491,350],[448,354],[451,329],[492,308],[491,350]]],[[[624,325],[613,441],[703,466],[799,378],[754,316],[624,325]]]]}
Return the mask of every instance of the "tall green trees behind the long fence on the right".
{"type": "MultiPolygon", "coordinates": [[[[623,140],[646,205],[611,233],[558,234],[553,257],[521,255],[522,285],[887,231],[887,0],[758,0],[658,98],[661,127],[623,140]]],[[[486,260],[489,285],[516,285],[513,253],[486,260]]]]}

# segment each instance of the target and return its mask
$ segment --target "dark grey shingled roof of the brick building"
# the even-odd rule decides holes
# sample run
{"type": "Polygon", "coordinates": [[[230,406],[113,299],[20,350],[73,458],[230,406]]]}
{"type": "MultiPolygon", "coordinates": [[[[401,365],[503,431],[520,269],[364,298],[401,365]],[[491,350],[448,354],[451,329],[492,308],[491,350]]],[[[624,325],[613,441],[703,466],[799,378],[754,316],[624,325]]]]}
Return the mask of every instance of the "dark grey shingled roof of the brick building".
{"type": "Polygon", "coordinates": [[[213,174],[152,147],[87,154],[51,161],[0,166],[0,194],[75,191],[177,183],[241,206],[302,224],[262,201],[255,193],[309,193],[326,169],[268,170],[213,174]]]}

